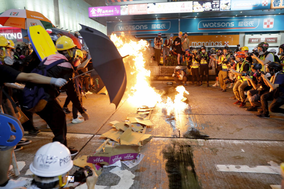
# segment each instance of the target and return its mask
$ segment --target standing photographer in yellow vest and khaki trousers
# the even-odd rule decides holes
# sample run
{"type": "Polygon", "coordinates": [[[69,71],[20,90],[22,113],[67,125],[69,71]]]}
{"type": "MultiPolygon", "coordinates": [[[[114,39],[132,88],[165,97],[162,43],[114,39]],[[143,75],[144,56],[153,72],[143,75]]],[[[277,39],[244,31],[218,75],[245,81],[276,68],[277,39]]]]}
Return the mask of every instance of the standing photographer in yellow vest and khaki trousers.
{"type": "Polygon", "coordinates": [[[219,78],[219,84],[222,92],[226,92],[227,83],[225,84],[225,78],[228,76],[228,60],[230,59],[230,53],[228,52],[229,47],[225,46],[222,48],[222,52],[220,52],[220,48],[218,49],[218,65],[217,69],[219,70],[218,78],[219,78]]]}

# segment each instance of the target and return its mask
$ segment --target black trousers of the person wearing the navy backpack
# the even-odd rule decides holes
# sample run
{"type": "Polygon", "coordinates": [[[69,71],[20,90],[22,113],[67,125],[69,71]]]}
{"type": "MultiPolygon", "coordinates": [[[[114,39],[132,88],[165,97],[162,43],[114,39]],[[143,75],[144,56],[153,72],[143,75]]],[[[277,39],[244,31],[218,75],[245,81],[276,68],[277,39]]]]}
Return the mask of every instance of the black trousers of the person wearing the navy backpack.
{"type": "Polygon", "coordinates": [[[57,100],[47,102],[45,108],[37,113],[49,125],[54,138],[52,141],[58,141],[67,146],[66,141],[66,117],[62,107],[57,100]]]}

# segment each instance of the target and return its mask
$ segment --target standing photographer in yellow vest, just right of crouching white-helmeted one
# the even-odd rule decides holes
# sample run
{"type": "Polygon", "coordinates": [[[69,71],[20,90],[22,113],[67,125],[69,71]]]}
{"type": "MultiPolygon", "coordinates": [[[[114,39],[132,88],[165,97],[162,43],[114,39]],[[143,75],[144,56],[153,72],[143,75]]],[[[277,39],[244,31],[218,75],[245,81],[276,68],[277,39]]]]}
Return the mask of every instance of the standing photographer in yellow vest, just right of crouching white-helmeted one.
{"type": "Polygon", "coordinates": [[[198,73],[199,64],[200,64],[200,57],[197,54],[197,50],[193,49],[191,50],[191,54],[188,57],[188,66],[190,66],[191,75],[192,75],[191,85],[194,85],[195,81],[196,81],[196,86],[200,85],[199,84],[200,77],[198,73]]]}

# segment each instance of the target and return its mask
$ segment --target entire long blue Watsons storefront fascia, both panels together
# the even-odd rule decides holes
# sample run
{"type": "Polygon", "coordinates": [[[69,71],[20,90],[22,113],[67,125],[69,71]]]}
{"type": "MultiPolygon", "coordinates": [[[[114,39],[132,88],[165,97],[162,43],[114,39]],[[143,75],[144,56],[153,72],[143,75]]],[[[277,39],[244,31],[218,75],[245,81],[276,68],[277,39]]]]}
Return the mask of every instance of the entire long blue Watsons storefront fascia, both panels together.
{"type": "Polygon", "coordinates": [[[283,31],[284,15],[215,17],[215,18],[185,18],[135,20],[123,22],[107,22],[107,35],[112,32],[120,35],[165,34],[190,32],[267,32],[283,31]]]}

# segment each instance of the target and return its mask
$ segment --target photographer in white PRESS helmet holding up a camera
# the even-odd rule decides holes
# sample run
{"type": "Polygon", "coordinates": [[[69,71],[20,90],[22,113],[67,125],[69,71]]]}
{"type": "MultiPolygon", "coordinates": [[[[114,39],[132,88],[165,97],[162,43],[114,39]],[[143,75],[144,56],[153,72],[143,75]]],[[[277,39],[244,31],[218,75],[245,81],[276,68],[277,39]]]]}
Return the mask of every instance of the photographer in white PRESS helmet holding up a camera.
{"type": "MultiPolygon", "coordinates": [[[[94,189],[98,176],[90,167],[80,168],[73,178],[77,183],[68,184],[68,173],[73,167],[70,151],[59,142],[52,142],[41,146],[30,164],[30,171],[34,174],[32,184],[27,189],[73,189],[76,186],[87,183],[88,189],[94,189]],[[79,182],[79,183],[78,183],[79,182]]],[[[72,177],[69,176],[69,177],[72,177]]]]}

